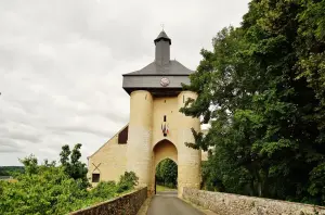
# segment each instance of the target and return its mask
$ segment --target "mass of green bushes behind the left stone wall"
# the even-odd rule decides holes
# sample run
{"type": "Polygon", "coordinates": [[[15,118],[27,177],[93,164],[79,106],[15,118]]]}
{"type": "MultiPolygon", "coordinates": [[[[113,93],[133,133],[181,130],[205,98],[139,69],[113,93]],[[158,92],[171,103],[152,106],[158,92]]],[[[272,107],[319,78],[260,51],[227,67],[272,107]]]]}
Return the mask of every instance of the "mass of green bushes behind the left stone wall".
{"type": "Polygon", "coordinates": [[[16,175],[14,181],[0,180],[0,214],[66,214],[117,197],[138,184],[138,177],[131,172],[125,173],[117,185],[114,181],[100,182],[88,191],[84,164],[79,161],[80,147],[81,144],[77,144],[72,154],[66,153],[69,151],[68,147],[63,147],[61,166],[48,161],[39,165],[34,155],[21,160],[25,173],[16,175]]]}

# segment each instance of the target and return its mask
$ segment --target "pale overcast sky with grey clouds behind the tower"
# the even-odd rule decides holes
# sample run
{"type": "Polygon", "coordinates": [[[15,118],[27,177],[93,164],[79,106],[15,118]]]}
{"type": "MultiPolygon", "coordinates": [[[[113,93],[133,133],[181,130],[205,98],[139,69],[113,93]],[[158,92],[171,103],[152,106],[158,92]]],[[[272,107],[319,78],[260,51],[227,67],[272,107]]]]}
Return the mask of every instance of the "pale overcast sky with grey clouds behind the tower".
{"type": "Polygon", "coordinates": [[[165,24],[171,59],[195,69],[202,48],[238,26],[248,0],[1,0],[0,166],[63,144],[91,155],[128,123],[122,74],[154,60],[165,24]]]}

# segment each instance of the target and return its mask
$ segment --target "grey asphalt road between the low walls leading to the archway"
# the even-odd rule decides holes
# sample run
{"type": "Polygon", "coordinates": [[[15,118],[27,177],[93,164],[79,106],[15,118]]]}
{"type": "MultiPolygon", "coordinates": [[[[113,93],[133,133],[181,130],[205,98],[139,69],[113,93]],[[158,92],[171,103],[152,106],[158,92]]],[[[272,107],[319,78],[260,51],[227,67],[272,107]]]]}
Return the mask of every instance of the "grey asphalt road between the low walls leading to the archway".
{"type": "Polygon", "coordinates": [[[147,215],[204,215],[200,211],[183,202],[177,192],[158,192],[153,197],[147,215]]]}

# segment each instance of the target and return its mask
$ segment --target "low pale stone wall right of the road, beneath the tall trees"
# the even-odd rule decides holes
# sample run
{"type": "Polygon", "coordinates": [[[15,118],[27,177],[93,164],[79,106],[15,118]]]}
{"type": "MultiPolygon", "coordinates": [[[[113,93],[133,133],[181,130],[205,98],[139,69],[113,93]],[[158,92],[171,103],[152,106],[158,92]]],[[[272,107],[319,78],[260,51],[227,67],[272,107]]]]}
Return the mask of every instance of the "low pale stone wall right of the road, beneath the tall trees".
{"type": "Polygon", "coordinates": [[[325,215],[325,207],[184,188],[183,199],[218,215],[325,215]]]}

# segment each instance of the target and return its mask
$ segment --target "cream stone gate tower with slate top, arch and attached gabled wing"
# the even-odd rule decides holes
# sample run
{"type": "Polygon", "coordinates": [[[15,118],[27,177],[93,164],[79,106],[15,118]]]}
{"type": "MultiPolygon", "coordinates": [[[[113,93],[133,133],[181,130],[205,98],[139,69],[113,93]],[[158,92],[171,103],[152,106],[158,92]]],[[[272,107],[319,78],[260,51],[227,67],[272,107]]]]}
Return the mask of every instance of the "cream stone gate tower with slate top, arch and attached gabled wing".
{"type": "Polygon", "coordinates": [[[155,61],[144,68],[123,75],[123,89],[130,94],[130,122],[94,154],[89,156],[89,179],[118,180],[125,170],[139,176],[139,186],[154,192],[155,168],[164,159],[178,164],[178,189],[199,188],[200,151],[185,147],[193,142],[191,128],[200,129],[198,118],[179,110],[192,91],[182,91],[193,73],[170,60],[171,39],[161,31],[154,40],[155,61]]]}

